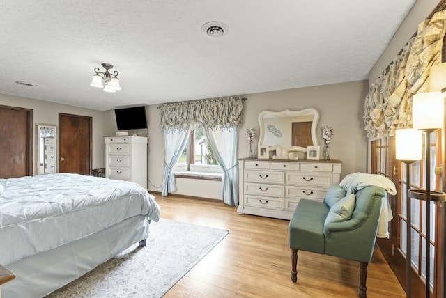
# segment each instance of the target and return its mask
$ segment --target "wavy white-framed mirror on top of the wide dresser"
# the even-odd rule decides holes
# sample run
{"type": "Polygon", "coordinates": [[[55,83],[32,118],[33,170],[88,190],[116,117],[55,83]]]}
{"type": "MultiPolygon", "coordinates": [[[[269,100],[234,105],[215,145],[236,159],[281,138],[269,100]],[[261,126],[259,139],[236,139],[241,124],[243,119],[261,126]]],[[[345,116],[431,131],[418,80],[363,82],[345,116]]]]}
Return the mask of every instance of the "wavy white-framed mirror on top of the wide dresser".
{"type": "MultiPolygon", "coordinates": [[[[275,155],[289,157],[289,152],[307,152],[307,146],[318,145],[319,113],[308,108],[300,111],[263,111],[259,114],[259,146],[270,146],[275,155]],[[276,150],[279,149],[279,150],[276,150]]],[[[300,158],[303,157],[302,154],[300,158]]],[[[294,154],[291,154],[293,157],[294,154]]]]}

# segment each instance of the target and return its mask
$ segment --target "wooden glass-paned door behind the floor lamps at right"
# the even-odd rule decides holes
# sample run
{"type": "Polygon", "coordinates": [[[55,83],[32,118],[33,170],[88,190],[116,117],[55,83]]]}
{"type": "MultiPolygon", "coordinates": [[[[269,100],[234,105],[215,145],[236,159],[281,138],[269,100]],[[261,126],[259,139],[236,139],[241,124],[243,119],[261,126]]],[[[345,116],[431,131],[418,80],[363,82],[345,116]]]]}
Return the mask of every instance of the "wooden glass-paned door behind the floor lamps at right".
{"type": "MultiPolygon", "coordinates": [[[[436,175],[435,168],[440,167],[443,162],[441,155],[441,133],[440,131],[432,132],[429,135],[429,143],[423,143],[423,160],[414,162],[411,167],[410,186],[406,181],[406,164],[400,164],[402,171],[399,171],[400,191],[399,191],[399,211],[397,213],[397,224],[399,230],[399,237],[397,242],[397,250],[395,252],[395,274],[398,279],[402,281],[404,288],[406,288],[406,242],[408,237],[406,235],[407,229],[407,188],[410,189],[425,189],[426,187],[426,147],[429,148],[431,154],[431,190],[440,191],[442,185],[440,177],[436,175]]],[[[431,203],[429,206],[431,210],[431,221],[426,223],[426,202],[412,198],[410,200],[410,254],[411,254],[411,292],[413,297],[424,297],[426,292],[426,226],[429,224],[431,230],[430,236],[430,285],[433,290],[433,297],[443,297],[440,295],[441,290],[441,239],[440,235],[443,233],[443,226],[441,223],[442,207],[439,204],[431,203]]],[[[431,291],[432,292],[432,291],[431,291]]]]}

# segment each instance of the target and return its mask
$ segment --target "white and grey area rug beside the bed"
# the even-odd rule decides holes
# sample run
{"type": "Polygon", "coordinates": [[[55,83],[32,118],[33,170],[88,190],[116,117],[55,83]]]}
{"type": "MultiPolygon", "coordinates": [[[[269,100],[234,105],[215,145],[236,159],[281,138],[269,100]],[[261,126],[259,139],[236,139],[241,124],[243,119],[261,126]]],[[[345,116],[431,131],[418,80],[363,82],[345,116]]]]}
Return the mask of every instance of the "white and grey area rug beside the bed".
{"type": "Polygon", "coordinates": [[[169,219],[137,244],[47,297],[162,297],[227,234],[169,219]]]}

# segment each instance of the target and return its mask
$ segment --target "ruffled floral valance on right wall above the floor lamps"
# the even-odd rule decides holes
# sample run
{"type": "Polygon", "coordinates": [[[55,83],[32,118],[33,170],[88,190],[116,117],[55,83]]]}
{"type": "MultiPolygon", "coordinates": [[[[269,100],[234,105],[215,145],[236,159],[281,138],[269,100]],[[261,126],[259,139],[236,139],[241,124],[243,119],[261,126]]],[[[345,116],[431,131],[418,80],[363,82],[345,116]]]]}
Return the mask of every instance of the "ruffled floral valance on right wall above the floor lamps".
{"type": "Polygon", "coordinates": [[[369,87],[364,103],[364,129],[368,138],[393,136],[412,127],[412,96],[429,92],[429,70],[442,63],[446,10],[418,25],[389,67],[369,87]]]}

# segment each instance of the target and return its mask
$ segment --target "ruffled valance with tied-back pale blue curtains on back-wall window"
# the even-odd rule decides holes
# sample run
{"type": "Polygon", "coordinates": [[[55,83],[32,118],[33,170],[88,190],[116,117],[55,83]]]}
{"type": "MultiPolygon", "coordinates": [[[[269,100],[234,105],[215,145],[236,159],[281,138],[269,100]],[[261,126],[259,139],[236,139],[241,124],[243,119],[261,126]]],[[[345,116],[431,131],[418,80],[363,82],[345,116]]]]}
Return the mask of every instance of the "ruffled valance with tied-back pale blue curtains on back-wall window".
{"type": "Polygon", "coordinates": [[[172,167],[180,158],[189,132],[195,127],[201,127],[206,132],[210,147],[223,170],[222,199],[228,205],[238,205],[238,125],[242,121],[242,111],[242,97],[239,96],[162,104],[162,196],[176,191],[172,167]]]}

